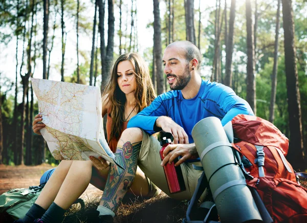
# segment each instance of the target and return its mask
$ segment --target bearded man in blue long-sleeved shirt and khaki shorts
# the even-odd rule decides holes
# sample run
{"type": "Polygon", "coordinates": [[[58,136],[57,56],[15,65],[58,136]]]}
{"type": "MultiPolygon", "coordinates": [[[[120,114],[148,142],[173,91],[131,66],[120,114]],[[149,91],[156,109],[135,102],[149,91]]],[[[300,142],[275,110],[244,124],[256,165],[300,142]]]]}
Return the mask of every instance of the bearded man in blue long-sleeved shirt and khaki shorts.
{"type": "Polygon", "coordinates": [[[193,126],[210,116],[219,118],[225,125],[238,114],[253,115],[249,104],[236,96],[231,88],[201,78],[201,53],[191,42],[169,44],[164,51],[163,64],[173,91],[158,96],[150,106],[129,121],[128,128],[122,133],[117,146],[117,161],[126,170],[112,166],[109,172],[106,189],[97,209],[100,215],[104,215],[100,216],[101,222],[112,222],[111,216],[114,216],[120,200],[133,182],[137,165],[170,197],[190,199],[202,174],[192,165],[201,166],[191,136],[193,126]],[[171,132],[174,137],[174,144],[164,150],[162,163],[160,142],[150,136],[160,130],[171,132]],[[181,165],[186,190],[170,194],[162,166],[177,157],[180,160],[176,166],[181,165]]]}

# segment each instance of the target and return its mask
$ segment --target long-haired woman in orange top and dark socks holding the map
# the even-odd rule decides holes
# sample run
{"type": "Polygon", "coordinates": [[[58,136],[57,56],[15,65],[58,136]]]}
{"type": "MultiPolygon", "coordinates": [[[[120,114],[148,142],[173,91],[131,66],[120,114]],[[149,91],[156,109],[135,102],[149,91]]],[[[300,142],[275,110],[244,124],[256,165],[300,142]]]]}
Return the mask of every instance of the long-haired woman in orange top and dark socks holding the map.
{"type": "MultiPolygon", "coordinates": [[[[102,97],[102,117],[107,114],[107,140],[113,152],[129,119],[148,106],[153,99],[155,91],[145,61],[136,53],[121,55],[113,66],[102,97]]],[[[32,124],[34,132],[39,135],[39,130],[45,127],[45,124],[39,123],[42,119],[38,114],[32,124]]],[[[61,222],[65,210],[85,191],[89,183],[103,190],[109,171],[108,163],[102,158],[90,159],[91,161],[61,161],[35,204],[17,222],[33,222],[36,218],[41,218],[42,222],[61,222]]],[[[129,192],[154,196],[160,191],[138,168],[129,192]]]]}

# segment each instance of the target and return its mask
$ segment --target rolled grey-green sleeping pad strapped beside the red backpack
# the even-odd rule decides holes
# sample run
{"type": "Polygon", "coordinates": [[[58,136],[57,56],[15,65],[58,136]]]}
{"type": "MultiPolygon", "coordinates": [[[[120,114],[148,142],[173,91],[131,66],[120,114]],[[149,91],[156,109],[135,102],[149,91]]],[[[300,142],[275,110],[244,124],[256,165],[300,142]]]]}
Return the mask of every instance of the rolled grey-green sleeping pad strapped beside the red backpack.
{"type": "Polygon", "coordinates": [[[221,222],[262,222],[242,170],[220,119],[205,118],[193,127],[192,137],[209,182],[221,222]]]}

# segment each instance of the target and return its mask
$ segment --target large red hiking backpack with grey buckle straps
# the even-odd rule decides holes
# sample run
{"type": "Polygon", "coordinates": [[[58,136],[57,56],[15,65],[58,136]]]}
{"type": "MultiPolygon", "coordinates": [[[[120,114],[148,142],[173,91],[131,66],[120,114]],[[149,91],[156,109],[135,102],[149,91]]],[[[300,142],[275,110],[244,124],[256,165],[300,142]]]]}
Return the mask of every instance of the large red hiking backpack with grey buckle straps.
{"type": "Polygon", "coordinates": [[[255,116],[237,115],[232,120],[233,147],[254,177],[255,188],[274,222],[307,222],[307,189],[285,156],[289,140],[272,123],[255,116]]]}

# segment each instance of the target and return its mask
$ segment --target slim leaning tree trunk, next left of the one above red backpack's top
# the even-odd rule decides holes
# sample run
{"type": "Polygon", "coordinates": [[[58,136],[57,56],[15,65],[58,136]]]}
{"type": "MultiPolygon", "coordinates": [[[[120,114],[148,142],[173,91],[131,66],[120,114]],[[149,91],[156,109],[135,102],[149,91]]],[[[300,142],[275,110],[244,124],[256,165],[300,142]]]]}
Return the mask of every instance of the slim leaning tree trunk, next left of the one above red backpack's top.
{"type": "Polygon", "coordinates": [[[229,34],[226,48],[226,65],[225,65],[225,80],[224,84],[231,87],[232,83],[232,54],[233,54],[233,30],[234,30],[234,18],[235,18],[235,1],[231,0],[230,16],[229,16],[229,34]]]}

